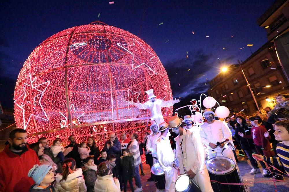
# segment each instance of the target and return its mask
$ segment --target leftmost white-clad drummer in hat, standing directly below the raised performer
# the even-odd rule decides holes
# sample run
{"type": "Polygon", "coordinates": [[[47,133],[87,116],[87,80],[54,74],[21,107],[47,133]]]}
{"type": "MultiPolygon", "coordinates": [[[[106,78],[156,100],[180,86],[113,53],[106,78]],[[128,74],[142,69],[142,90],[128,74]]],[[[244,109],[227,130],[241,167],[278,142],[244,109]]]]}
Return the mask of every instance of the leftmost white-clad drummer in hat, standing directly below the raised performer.
{"type": "Polygon", "coordinates": [[[147,152],[151,153],[151,155],[153,156],[153,164],[155,164],[159,162],[158,156],[157,156],[157,149],[156,149],[157,146],[155,142],[157,141],[161,133],[158,132],[159,126],[155,124],[155,121],[153,124],[151,124],[150,129],[153,133],[147,136],[146,148],[147,148],[147,152]]]}

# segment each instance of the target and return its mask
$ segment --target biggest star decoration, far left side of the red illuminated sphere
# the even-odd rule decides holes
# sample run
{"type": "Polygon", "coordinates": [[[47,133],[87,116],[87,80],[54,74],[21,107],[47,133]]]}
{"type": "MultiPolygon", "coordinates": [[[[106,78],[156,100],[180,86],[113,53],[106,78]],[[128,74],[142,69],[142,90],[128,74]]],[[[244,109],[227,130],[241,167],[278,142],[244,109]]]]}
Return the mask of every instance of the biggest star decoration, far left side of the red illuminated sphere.
{"type": "MultiPolygon", "coordinates": [[[[32,80],[32,76],[31,76],[31,74],[29,73],[29,76],[27,77],[26,82],[24,83],[24,86],[23,86],[23,94],[21,94],[21,95],[14,101],[14,103],[15,103],[20,109],[22,109],[22,112],[23,112],[23,129],[24,129],[24,130],[27,128],[28,123],[29,123],[29,121],[30,121],[30,119],[31,119],[32,116],[38,117],[38,118],[43,119],[43,120],[45,120],[45,121],[49,121],[49,118],[48,118],[47,114],[45,113],[45,110],[43,109],[43,106],[42,106],[42,104],[41,104],[40,101],[41,101],[42,96],[43,96],[44,92],[46,91],[48,85],[50,84],[50,81],[46,81],[46,82],[40,83],[40,84],[38,84],[38,85],[37,85],[36,81],[37,81],[37,78],[34,77],[34,79],[32,80]],[[41,86],[41,85],[45,85],[45,87],[43,88],[43,86],[41,86]],[[36,102],[38,102],[38,103],[39,103],[39,106],[40,106],[42,112],[44,113],[44,116],[45,116],[45,117],[41,117],[41,116],[39,116],[39,115],[34,115],[34,114],[33,114],[33,111],[31,111],[31,114],[29,115],[28,120],[27,120],[27,121],[25,120],[25,112],[26,112],[26,111],[25,111],[25,109],[24,109],[24,106],[27,105],[27,104],[31,104],[31,101],[29,100],[29,97],[27,97],[27,93],[26,93],[26,89],[27,89],[28,87],[30,87],[29,89],[31,89],[31,90],[36,90],[37,92],[40,92],[39,94],[37,94],[37,95],[34,96],[34,98],[33,98],[33,101],[34,101],[33,109],[35,109],[35,106],[37,105],[36,102]],[[40,96],[40,97],[37,99],[38,96],[40,96]]],[[[31,92],[32,92],[32,91],[31,91],[31,92]]],[[[35,125],[35,126],[36,126],[36,125],[35,125]]],[[[37,127],[36,127],[36,129],[37,129],[37,127]]]]}

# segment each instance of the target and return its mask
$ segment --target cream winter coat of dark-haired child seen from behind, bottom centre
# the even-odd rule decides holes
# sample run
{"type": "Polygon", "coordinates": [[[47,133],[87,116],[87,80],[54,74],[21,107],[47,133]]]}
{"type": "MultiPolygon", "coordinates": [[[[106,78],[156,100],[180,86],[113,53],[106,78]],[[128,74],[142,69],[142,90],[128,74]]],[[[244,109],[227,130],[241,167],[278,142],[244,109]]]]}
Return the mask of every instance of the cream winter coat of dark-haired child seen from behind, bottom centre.
{"type": "Polygon", "coordinates": [[[113,181],[112,174],[98,176],[94,186],[95,192],[120,192],[121,186],[118,179],[113,181]]]}

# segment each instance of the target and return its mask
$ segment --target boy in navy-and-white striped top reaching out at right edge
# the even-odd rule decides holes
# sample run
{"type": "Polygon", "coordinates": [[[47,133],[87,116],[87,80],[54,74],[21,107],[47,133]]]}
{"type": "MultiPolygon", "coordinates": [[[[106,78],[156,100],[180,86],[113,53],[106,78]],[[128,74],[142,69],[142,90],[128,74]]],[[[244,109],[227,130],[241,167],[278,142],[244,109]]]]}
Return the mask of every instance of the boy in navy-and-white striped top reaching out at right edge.
{"type": "Polygon", "coordinates": [[[275,123],[274,135],[276,140],[282,141],[277,144],[276,152],[278,157],[266,157],[254,154],[253,158],[256,161],[258,161],[257,159],[263,159],[268,163],[283,166],[289,175],[289,120],[277,121],[275,123]]]}

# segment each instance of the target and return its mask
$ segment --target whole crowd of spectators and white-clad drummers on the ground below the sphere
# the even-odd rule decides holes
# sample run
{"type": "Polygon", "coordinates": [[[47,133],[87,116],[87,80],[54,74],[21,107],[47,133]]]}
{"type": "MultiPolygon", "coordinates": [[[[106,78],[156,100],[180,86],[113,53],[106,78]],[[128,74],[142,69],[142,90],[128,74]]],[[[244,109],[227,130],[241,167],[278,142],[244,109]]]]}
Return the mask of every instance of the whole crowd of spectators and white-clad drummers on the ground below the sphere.
{"type": "MultiPolygon", "coordinates": [[[[210,192],[206,160],[223,156],[237,162],[237,149],[249,158],[251,174],[260,172],[260,161],[264,177],[282,180],[283,176],[265,163],[289,174],[288,100],[289,94],[278,94],[278,104],[272,110],[266,108],[267,114],[239,112],[223,121],[205,109],[204,122],[197,125],[190,115],[184,120],[175,115],[168,123],[152,121],[142,139],[135,132],[130,138],[121,132],[118,140],[110,132],[102,148],[93,137],[79,144],[75,135],[69,136],[66,147],[62,138],[54,138],[50,145],[45,137],[28,145],[26,130],[14,129],[0,153],[0,191],[127,191],[127,183],[131,191],[142,191],[144,153],[150,168],[160,164],[166,180],[164,191],[175,191],[177,176],[187,174],[201,191],[210,192]]],[[[154,179],[151,173],[148,181],[154,179]]]]}

